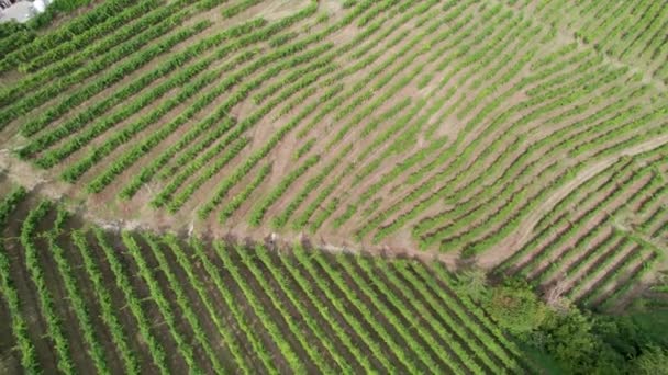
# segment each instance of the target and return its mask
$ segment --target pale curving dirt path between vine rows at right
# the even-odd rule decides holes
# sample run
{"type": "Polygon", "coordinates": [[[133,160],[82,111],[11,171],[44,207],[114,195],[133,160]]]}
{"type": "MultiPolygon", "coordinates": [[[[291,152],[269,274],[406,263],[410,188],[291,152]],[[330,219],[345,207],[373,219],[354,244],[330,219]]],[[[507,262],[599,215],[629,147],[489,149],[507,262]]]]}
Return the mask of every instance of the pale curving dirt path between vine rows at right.
{"type": "Polygon", "coordinates": [[[566,197],[566,195],[568,195],[569,192],[577,189],[579,185],[584,183],[587,180],[593,178],[601,171],[605,170],[608,167],[612,166],[619,160],[620,157],[634,156],[641,152],[645,152],[660,147],[666,143],[668,143],[668,135],[664,135],[654,138],[647,143],[631,147],[621,152],[620,155],[600,160],[597,163],[584,169],[570,182],[557,189],[557,191],[555,191],[547,200],[545,200],[545,202],[543,202],[533,213],[527,215],[526,218],[524,218],[523,223],[520,224],[520,229],[515,234],[506,237],[503,241],[501,241],[497,246],[497,249],[494,251],[485,252],[479,259],[479,264],[486,269],[493,268],[497,264],[501,263],[503,260],[505,260],[508,257],[512,255],[513,251],[515,249],[521,248],[528,239],[528,237],[533,232],[535,224],[538,223],[541,217],[552,211],[559,201],[561,201],[564,197],[566,197]]]}

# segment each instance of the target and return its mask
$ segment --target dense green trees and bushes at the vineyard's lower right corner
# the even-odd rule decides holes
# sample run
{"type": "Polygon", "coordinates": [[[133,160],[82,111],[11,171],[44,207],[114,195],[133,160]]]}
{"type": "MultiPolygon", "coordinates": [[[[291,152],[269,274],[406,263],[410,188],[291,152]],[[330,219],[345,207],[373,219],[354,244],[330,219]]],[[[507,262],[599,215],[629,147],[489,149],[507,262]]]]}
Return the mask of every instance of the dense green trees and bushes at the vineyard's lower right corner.
{"type": "Polygon", "coordinates": [[[528,356],[554,362],[549,367],[558,370],[550,372],[638,374],[665,367],[657,367],[668,353],[668,318],[661,311],[602,316],[575,306],[552,307],[520,279],[506,279],[486,295],[482,304],[491,317],[527,346],[528,356]]]}

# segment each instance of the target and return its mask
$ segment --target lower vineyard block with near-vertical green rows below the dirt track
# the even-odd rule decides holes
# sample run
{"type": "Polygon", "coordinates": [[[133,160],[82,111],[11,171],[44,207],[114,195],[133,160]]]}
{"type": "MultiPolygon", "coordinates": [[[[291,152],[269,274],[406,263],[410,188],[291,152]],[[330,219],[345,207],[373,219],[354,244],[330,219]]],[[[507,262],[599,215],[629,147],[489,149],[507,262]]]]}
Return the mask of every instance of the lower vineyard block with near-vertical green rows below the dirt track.
{"type": "Polygon", "coordinates": [[[82,226],[23,189],[3,194],[0,219],[0,352],[15,348],[3,357],[4,373],[486,374],[530,366],[482,309],[453,292],[439,264],[116,235],[82,226]]]}

